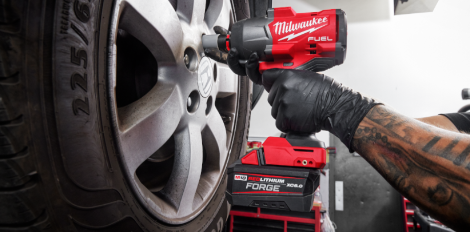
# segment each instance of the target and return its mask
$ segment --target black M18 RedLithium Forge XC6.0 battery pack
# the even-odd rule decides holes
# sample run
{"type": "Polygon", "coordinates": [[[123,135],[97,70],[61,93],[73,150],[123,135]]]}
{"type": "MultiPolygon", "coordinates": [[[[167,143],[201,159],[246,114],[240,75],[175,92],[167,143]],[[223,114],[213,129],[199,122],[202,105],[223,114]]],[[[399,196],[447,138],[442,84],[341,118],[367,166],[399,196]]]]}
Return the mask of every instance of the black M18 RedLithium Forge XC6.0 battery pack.
{"type": "Polygon", "coordinates": [[[313,168],[234,163],[225,195],[232,205],[310,212],[319,174],[313,168]]]}

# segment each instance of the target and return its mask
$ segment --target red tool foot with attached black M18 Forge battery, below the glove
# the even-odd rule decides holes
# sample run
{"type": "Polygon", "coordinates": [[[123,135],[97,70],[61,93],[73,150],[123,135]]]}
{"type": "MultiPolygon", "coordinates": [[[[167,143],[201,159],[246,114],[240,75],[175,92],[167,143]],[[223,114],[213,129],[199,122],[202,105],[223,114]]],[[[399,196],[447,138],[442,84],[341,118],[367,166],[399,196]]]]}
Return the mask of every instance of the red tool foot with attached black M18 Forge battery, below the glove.
{"type": "Polygon", "coordinates": [[[325,165],[325,143],[314,134],[269,137],[228,167],[225,196],[232,205],[310,212],[325,165]]]}

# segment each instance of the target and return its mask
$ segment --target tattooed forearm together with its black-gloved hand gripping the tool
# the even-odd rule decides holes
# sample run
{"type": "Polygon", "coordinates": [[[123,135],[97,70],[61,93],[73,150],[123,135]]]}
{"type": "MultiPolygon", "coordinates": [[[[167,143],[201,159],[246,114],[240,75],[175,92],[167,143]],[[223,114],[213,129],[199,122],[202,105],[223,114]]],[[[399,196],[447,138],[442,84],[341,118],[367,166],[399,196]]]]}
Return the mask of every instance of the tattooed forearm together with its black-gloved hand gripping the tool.
{"type": "Polygon", "coordinates": [[[468,231],[470,135],[432,126],[439,123],[429,118],[425,124],[402,116],[323,74],[269,69],[262,83],[277,129],[328,130],[418,207],[468,231]]]}

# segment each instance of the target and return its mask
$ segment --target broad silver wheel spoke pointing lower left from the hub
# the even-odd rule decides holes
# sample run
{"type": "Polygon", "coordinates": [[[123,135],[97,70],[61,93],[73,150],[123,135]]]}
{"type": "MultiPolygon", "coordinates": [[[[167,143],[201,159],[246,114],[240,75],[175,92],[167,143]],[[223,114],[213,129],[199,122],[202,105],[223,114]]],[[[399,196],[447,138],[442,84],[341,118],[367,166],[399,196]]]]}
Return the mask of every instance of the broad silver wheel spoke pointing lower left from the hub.
{"type": "Polygon", "coordinates": [[[183,106],[175,86],[157,83],[141,99],[118,109],[122,156],[131,174],[173,135],[183,106]]]}

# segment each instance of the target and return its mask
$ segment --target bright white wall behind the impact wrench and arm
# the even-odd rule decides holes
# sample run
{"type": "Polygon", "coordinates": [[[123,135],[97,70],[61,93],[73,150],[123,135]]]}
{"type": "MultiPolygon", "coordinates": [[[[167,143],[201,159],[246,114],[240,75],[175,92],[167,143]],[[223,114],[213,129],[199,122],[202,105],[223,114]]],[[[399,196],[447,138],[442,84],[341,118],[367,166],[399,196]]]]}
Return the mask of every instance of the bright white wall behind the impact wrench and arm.
{"type": "MultiPolygon", "coordinates": [[[[400,3],[398,3],[400,4],[400,3]]],[[[470,88],[470,1],[439,0],[434,12],[393,15],[393,0],[273,0],[296,12],[343,9],[348,50],[324,73],[410,117],[457,112],[470,88]]],[[[279,136],[268,94],[252,111],[250,137],[279,136]]],[[[317,137],[328,145],[329,133],[317,137]]]]}

